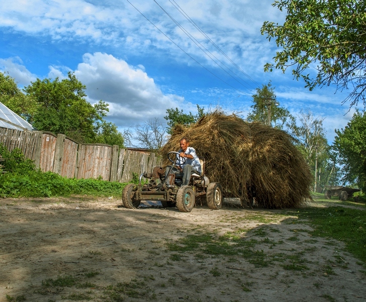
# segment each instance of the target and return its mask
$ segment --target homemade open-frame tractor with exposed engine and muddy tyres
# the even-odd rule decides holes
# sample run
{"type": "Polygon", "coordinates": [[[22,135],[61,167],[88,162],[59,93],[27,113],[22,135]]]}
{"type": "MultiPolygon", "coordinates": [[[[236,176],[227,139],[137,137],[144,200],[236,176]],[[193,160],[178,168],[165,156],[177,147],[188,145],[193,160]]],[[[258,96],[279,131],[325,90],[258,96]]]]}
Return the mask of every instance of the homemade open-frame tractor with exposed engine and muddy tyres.
{"type": "Polygon", "coordinates": [[[137,208],[141,200],[159,200],[163,207],[174,207],[181,212],[190,212],[196,197],[207,202],[210,209],[221,209],[223,205],[223,191],[221,185],[209,182],[204,175],[205,161],[200,160],[201,175],[192,174],[188,186],[182,186],[183,173],[171,173],[177,165],[184,165],[185,158],[179,157],[178,152],[168,152],[168,159],[172,165],[166,169],[155,167],[152,173],[142,173],[138,185],[127,184],[122,191],[122,202],[126,208],[137,208]],[[142,178],[145,178],[142,181],[142,178]]]}

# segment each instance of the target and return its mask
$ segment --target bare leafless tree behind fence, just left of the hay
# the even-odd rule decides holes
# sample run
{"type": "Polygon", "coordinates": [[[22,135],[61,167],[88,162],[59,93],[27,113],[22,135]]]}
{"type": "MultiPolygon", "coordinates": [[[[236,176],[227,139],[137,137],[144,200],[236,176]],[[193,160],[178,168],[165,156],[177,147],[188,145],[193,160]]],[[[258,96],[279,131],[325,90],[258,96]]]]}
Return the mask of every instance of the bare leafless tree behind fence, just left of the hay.
{"type": "Polygon", "coordinates": [[[159,118],[150,119],[136,128],[132,138],[144,148],[160,149],[167,142],[167,128],[159,118]]]}

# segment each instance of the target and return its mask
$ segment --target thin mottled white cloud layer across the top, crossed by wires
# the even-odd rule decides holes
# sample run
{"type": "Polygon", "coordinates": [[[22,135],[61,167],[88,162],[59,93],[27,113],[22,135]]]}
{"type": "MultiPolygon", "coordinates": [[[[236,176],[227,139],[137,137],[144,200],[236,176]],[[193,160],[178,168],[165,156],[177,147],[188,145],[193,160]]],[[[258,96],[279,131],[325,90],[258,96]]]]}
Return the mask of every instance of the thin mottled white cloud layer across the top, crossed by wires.
{"type": "MultiPolygon", "coordinates": [[[[159,4],[217,58],[230,64],[168,0],[159,4]]],[[[218,68],[153,1],[131,2],[144,16],[203,64],[218,68]]],[[[244,70],[262,69],[270,56],[269,43],[258,33],[264,20],[281,20],[272,0],[193,1],[180,8],[244,70]],[[254,51],[253,51],[254,50],[254,51]],[[265,58],[265,59],[264,59],[265,58]],[[268,58],[268,59],[267,59],[268,58]],[[258,64],[260,62],[260,64],[258,64]],[[244,68],[245,67],[245,68],[244,68]]],[[[159,32],[128,2],[84,0],[13,0],[0,2],[0,27],[53,40],[113,45],[128,55],[153,55],[194,64],[186,54],[159,32]]],[[[272,45],[273,46],[273,45],[272,45]]],[[[212,67],[211,67],[212,68],[212,67]]]]}

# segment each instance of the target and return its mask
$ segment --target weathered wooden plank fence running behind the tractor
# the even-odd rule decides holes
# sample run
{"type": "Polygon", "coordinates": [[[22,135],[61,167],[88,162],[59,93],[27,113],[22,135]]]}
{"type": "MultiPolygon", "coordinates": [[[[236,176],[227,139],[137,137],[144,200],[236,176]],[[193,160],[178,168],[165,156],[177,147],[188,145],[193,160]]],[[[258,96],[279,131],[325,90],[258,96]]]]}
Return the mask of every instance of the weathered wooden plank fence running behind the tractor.
{"type": "Polygon", "coordinates": [[[44,131],[20,131],[0,127],[0,143],[11,152],[22,150],[42,171],[67,178],[102,178],[129,182],[133,173],[151,173],[161,160],[145,150],[119,148],[118,145],[79,144],[64,134],[44,131]]]}

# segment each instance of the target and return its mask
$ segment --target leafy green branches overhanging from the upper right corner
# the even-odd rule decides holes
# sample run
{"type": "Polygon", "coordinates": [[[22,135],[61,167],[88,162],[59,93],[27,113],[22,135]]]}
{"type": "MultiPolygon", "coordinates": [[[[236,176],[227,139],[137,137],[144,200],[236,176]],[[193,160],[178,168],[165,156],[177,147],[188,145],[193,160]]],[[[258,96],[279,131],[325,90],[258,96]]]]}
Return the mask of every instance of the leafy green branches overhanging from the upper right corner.
{"type": "Polygon", "coordinates": [[[345,101],[350,105],[363,101],[366,95],[366,2],[358,0],[279,0],[273,7],[286,11],[283,25],[264,22],[261,33],[268,40],[276,39],[281,48],[274,64],[283,72],[288,67],[296,79],[303,78],[306,86],[336,84],[352,92],[345,101]],[[314,78],[308,71],[317,70],[314,78]]]}

